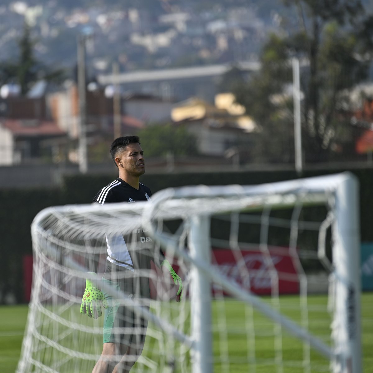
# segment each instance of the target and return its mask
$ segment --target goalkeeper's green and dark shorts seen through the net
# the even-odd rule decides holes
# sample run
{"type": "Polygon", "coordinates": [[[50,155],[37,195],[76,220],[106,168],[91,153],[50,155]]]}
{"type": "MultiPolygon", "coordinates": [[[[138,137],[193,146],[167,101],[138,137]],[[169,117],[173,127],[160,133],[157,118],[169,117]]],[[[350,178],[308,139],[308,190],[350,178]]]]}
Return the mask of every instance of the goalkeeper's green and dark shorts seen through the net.
{"type": "MultiPolygon", "coordinates": [[[[131,300],[138,300],[143,307],[149,310],[149,299],[141,295],[139,279],[132,271],[124,269],[125,276],[116,281],[103,278],[103,281],[117,290],[124,292],[131,300]],[[145,305],[146,304],[146,305],[145,305]]],[[[147,289],[145,289],[147,291],[147,289]]],[[[104,292],[109,307],[105,310],[103,343],[112,342],[132,347],[144,344],[148,320],[135,313],[131,307],[119,305],[118,301],[107,292],[104,292]]]]}

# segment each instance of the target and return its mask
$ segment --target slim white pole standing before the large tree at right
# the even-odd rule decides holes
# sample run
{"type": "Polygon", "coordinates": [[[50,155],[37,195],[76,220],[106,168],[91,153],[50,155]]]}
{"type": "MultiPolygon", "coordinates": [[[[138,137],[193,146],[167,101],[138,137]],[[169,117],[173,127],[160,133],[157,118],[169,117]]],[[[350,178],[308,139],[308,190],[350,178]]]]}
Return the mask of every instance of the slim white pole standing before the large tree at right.
{"type": "Polygon", "coordinates": [[[295,170],[298,175],[303,172],[302,161],[302,132],[301,132],[301,92],[299,60],[292,59],[293,67],[293,100],[294,100],[294,145],[295,145],[295,170]]]}

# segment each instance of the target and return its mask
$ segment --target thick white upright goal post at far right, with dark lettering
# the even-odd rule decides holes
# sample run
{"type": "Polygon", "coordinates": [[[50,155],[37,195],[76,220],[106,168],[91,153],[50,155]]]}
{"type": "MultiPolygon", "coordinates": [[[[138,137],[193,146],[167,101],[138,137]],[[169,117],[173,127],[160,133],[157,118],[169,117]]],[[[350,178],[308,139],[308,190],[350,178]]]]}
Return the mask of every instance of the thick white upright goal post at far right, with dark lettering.
{"type": "MultiPolygon", "coordinates": [[[[360,216],[358,210],[358,184],[350,177],[336,187],[333,226],[333,264],[335,270],[335,324],[344,324],[339,331],[333,330],[336,353],[345,357],[340,370],[360,372],[360,216]]],[[[339,369],[339,367],[338,367],[339,369]]]]}

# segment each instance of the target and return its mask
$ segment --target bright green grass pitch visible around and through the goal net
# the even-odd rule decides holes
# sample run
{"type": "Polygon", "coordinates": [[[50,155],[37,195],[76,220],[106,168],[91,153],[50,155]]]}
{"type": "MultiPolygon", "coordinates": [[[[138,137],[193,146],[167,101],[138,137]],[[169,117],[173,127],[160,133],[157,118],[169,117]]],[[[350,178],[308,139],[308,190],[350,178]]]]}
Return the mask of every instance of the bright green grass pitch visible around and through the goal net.
{"type": "MultiPolygon", "coordinates": [[[[362,294],[362,355],[363,355],[363,372],[373,373],[373,293],[362,294]]],[[[283,312],[294,320],[300,319],[299,311],[294,304],[297,304],[298,299],[294,296],[281,297],[280,303],[283,312]]],[[[246,362],[247,352],[247,329],[244,323],[244,307],[238,307],[238,303],[233,300],[226,299],[224,303],[225,313],[227,315],[227,325],[223,328],[214,329],[214,355],[224,354],[224,347],[219,344],[219,336],[224,334],[225,329],[233,330],[233,333],[225,336],[228,340],[228,353],[231,361],[230,372],[243,373],[249,372],[250,366],[246,362]],[[223,349],[223,350],[222,350],[223,349]],[[233,362],[236,362],[232,364],[233,362]]],[[[326,305],[325,296],[311,296],[308,299],[309,305],[309,328],[317,335],[324,335],[325,342],[329,338],[329,320],[320,317],[319,306],[326,305]]],[[[0,307],[0,372],[15,372],[18,359],[21,353],[21,345],[23,339],[23,330],[25,328],[28,307],[26,305],[2,306],[0,307]]],[[[213,307],[213,318],[219,320],[221,308],[217,304],[213,307]]],[[[255,357],[260,364],[256,367],[255,372],[276,372],[275,364],[273,364],[274,356],[274,340],[271,336],[273,325],[263,316],[255,313],[254,324],[252,325],[255,332],[255,357]]],[[[216,325],[221,325],[217,323],[216,325]]],[[[246,326],[247,327],[247,326],[246,326]]],[[[150,354],[154,350],[156,341],[147,337],[147,343],[144,348],[144,354],[150,354]]],[[[301,368],[301,359],[303,354],[302,343],[286,332],[282,336],[282,353],[283,360],[291,360],[290,365],[284,365],[284,372],[303,372],[301,368]],[[299,362],[299,363],[298,363],[299,362]]],[[[327,372],[328,362],[320,356],[318,352],[311,351],[311,372],[327,372]]],[[[226,369],[224,361],[218,362],[214,366],[214,372],[221,372],[226,369]]],[[[75,373],[75,372],[71,372],[75,373]]],[[[80,372],[79,372],[80,373],[80,372]]],[[[154,373],[154,372],[153,372],[154,373]]]]}

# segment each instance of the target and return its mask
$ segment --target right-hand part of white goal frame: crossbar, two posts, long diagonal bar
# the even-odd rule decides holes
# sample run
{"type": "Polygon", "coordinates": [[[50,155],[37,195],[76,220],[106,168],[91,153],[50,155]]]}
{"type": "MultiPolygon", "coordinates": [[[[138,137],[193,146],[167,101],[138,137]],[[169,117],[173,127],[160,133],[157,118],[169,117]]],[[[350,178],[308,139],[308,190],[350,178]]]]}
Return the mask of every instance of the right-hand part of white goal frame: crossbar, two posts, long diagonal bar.
{"type": "MultiPolygon", "coordinates": [[[[338,325],[339,332],[332,331],[335,349],[314,338],[305,330],[300,329],[291,320],[276,313],[259,297],[242,292],[234,282],[228,278],[222,282],[226,291],[245,302],[251,303],[274,321],[283,325],[290,333],[310,343],[323,355],[333,361],[334,373],[361,373],[361,325],[360,325],[360,218],[359,218],[359,191],[357,178],[349,172],[337,175],[304,178],[292,181],[275,182],[254,186],[238,186],[226,191],[225,186],[191,186],[179,189],[166,189],[153,198],[153,206],[145,214],[145,226],[152,229],[154,237],[164,246],[173,247],[176,255],[190,261],[200,272],[192,276],[197,292],[192,292],[192,325],[195,346],[195,360],[193,373],[211,373],[212,341],[210,330],[211,309],[206,307],[206,300],[211,299],[209,277],[221,281],[221,274],[209,269],[210,244],[208,242],[208,214],[191,216],[191,236],[189,238],[190,257],[178,250],[176,243],[169,242],[163,235],[157,235],[155,226],[151,224],[151,216],[157,206],[170,201],[171,210],[177,211],[180,202],[190,211],[195,210],[196,204],[201,204],[201,198],[227,198],[228,204],[219,206],[217,203],[214,212],[232,211],[235,208],[242,210],[242,200],[245,200],[245,210],[257,210],[259,206],[272,207],[294,206],[296,203],[321,204],[333,200],[333,210],[336,219],[333,223],[333,275],[335,278],[336,309],[333,325],[338,325]],[[239,196],[239,198],[235,198],[239,196]],[[233,197],[231,200],[229,197],[233,197]],[[171,199],[172,198],[172,199],[171,199]],[[236,201],[237,206],[234,206],[236,201]],[[207,276],[208,274],[208,276],[207,276]],[[341,325],[343,326],[341,328],[341,325]]],[[[219,201],[221,202],[221,201],[219,201]]],[[[175,212],[177,213],[177,212],[175,212]]]]}

